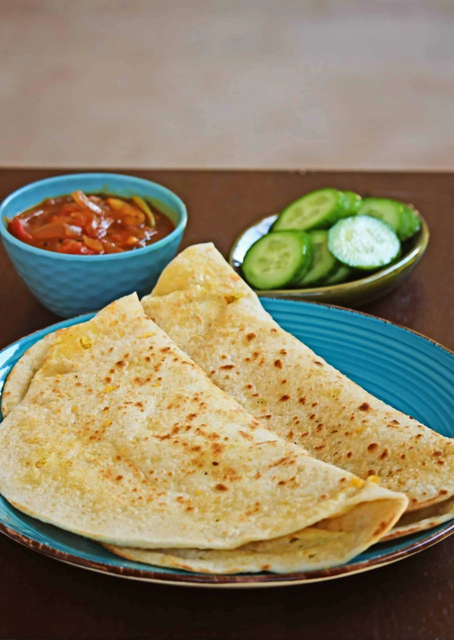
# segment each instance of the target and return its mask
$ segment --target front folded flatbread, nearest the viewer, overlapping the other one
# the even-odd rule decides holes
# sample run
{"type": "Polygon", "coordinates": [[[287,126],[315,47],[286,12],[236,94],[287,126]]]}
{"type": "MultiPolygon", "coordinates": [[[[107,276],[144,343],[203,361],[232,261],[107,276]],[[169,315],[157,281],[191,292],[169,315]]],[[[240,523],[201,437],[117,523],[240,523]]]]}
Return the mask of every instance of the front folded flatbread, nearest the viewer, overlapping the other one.
{"type": "Polygon", "coordinates": [[[38,344],[8,381],[0,492],[39,520],[165,566],[288,571],[347,561],[407,506],[248,414],[136,294],[38,344]]]}

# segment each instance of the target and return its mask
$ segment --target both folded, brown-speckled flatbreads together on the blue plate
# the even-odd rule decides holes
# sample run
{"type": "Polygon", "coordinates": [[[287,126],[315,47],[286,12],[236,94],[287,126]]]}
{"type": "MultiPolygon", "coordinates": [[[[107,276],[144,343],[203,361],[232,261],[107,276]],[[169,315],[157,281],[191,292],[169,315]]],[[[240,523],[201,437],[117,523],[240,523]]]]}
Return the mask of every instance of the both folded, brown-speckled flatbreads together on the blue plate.
{"type": "Polygon", "coordinates": [[[334,566],[454,517],[452,440],[284,332],[213,244],[142,305],[122,298],[14,367],[0,491],[17,508],[213,573],[334,566]]]}

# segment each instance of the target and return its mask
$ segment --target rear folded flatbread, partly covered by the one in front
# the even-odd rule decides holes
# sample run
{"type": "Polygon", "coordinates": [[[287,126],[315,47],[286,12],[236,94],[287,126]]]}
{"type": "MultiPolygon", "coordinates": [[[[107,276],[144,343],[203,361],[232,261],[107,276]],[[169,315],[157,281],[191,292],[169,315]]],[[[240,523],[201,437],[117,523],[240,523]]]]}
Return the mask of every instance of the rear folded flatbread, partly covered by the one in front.
{"type": "Polygon", "coordinates": [[[397,537],[454,517],[454,442],[348,380],[265,312],[213,244],[163,271],[145,312],[248,412],[313,456],[406,493],[397,537]]]}

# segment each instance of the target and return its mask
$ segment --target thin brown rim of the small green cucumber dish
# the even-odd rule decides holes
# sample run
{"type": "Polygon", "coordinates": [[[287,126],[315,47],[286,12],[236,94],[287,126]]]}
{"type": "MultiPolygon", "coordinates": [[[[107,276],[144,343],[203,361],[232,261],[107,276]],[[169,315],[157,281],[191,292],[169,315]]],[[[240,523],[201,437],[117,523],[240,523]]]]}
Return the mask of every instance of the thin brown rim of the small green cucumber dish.
{"type": "MultiPolygon", "coordinates": [[[[393,265],[387,266],[379,271],[375,271],[371,275],[364,276],[364,278],[358,278],[357,280],[352,280],[350,282],[341,282],[340,284],[327,285],[326,287],[311,287],[310,289],[253,289],[253,291],[257,294],[257,296],[264,296],[266,298],[272,298],[273,296],[280,296],[282,298],[291,298],[291,296],[302,296],[302,295],[312,295],[316,296],[317,294],[323,295],[332,292],[333,294],[339,294],[341,292],[349,291],[351,289],[361,289],[361,287],[368,287],[369,285],[375,284],[382,280],[382,278],[386,278],[391,275],[400,274],[405,268],[408,268],[412,264],[418,264],[419,260],[423,257],[426,248],[430,239],[430,231],[428,224],[425,219],[412,205],[408,205],[412,208],[412,210],[417,214],[419,220],[421,221],[421,229],[419,230],[419,239],[418,243],[414,248],[409,252],[403,255],[398,262],[393,265]]],[[[244,234],[259,225],[264,220],[271,218],[275,214],[268,214],[268,216],[263,216],[260,220],[256,220],[254,223],[243,229],[241,234],[234,240],[232,246],[229,250],[229,255],[227,257],[227,262],[229,262],[232,269],[238,273],[236,267],[233,264],[233,253],[238,246],[240,239],[244,236],[244,234]]]]}

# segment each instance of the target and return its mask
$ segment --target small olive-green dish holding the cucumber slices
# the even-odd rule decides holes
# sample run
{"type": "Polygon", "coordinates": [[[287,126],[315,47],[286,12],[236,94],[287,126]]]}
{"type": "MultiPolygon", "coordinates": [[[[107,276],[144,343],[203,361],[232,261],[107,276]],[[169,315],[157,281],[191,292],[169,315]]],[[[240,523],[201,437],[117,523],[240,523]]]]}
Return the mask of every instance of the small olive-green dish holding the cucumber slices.
{"type": "MultiPolygon", "coordinates": [[[[312,287],[311,289],[256,289],[255,291],[265,298],[313,300],[330,302],[343,307],[359,307],[377,300],[377,298],[384,296],[410,275],[427,248],[429,228],[419,211],[415,212],[421,221],[421,228],[417,234],[402,244],[402,257],[397,262],[380,269],[380,271],[375,271],[364,278],[359,278],[359,280],[350,280],[350,282],[326,287],[312,287]]],[[[260,237],[268,233],[276,218],[277,214],[262,218],[245,229],[234,241],[229,253],[229,263],[239,275],[242,275],[241,265],[248,248],[260,237]]]]}

